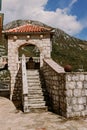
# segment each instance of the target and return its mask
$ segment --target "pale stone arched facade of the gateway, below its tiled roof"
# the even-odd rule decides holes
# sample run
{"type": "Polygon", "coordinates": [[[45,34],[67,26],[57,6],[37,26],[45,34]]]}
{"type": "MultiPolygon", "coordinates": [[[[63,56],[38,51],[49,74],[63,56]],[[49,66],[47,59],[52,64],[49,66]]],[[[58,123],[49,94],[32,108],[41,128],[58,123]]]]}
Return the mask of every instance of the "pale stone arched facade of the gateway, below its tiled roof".
{"type": "Polygon", "coordinates": [[[18,35],[17,39],[14,40],[14,35],[8,36],[8,68],[11,74],[11,97],[12,99],[14,92],[14,85],[16,83],[16,76],[19,70],[19,56],[18,49],[24,45],[35,45],[40,50],[40,67],[43,66],[43,59],[50,58],[51,54],[51,41],[50,34],[44,34],[43,38],[39,35],[32,35],[29,40],[27,40],[27,35],[18,35]]]}

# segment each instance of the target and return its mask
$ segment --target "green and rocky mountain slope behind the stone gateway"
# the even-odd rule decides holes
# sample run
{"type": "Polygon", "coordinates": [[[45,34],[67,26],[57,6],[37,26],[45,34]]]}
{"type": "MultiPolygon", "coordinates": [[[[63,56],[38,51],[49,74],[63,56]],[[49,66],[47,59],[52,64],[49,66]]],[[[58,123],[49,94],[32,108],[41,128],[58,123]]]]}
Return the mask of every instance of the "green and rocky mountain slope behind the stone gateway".
{"type": "MultiPolygon", "coordinates": [[[[49,27],[38,21],[16,20],[4,25],[3,29],[7,30],[27,23],[49,27]]],[[[79,69],[87,71],[87,41],[74,38],[58,28],[54,30],[52,58],[62,66],[72,65],[73,71],[79,71],[79,69]]]]}

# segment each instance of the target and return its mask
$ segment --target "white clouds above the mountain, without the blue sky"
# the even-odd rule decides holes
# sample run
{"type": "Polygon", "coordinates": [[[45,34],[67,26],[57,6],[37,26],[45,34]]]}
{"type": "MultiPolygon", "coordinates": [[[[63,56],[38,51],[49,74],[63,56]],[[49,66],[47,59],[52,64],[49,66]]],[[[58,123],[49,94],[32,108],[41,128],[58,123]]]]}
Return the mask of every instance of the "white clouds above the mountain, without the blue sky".
{"type": "MultiPolygon", "coordinates": [[[[3,0],[4,22],[7,23],[16,19],[37,20],[60,28],[71,35],[82,30],[82,25],[77,21],[77,17],[70,15],[65,9],[57,8],[56,11],[46,11],[47,2],[48,0],[3,0]]],[[[72,0],[69,8],[75,2],[77,0],[72,0]]]]}

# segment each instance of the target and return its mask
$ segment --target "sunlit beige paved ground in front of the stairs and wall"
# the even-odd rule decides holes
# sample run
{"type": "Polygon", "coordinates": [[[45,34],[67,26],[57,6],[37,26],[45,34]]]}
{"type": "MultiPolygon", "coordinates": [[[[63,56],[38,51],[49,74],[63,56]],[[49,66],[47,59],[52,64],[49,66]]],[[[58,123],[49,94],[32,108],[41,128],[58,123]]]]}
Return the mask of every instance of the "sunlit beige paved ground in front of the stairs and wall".
{"type": "Polygon", "coordinates": [[[0,130],[87,130],[87,118],[67,120],[51,112],[23,114],[0,97],[0,130]]]}

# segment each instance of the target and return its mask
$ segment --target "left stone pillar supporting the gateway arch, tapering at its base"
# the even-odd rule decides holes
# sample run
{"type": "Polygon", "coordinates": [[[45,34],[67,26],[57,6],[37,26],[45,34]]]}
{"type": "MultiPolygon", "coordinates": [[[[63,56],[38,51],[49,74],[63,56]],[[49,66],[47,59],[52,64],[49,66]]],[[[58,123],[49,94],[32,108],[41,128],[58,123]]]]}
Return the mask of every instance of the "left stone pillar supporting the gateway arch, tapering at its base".
{"type": "Polygon", "coordinates": [[[11,74],[11,90],[10,99],[12,100],[12,95],[15,85],[15,77],[18,72],[18,50],[15,43],[12,40],[8,41],[8,69],[11,74]]]}

